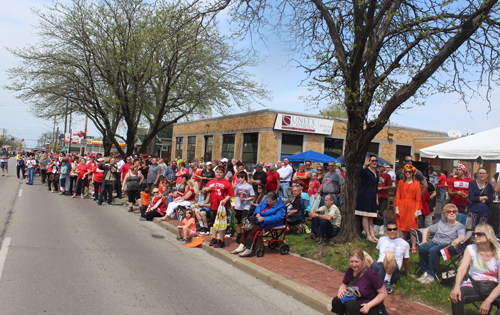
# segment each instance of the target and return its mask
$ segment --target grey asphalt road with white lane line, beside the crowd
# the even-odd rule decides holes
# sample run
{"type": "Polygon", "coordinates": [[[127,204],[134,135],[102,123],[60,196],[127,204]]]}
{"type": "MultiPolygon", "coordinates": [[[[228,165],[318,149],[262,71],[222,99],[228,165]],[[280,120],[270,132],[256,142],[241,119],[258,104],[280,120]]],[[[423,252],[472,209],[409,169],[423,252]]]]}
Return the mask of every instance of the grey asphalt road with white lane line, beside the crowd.
{"type": "Polygon", "coordinates": [[[125,207],[28,186],[9,166],[0,314],[318,314],[125,207]]]}

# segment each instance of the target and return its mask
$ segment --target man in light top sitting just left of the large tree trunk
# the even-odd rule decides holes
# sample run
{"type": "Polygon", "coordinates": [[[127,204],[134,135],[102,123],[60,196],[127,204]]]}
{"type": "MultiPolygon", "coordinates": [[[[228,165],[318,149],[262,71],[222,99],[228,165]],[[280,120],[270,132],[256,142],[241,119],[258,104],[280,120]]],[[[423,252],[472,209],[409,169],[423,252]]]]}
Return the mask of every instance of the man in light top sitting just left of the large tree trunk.
{"type": "Polygon", "coordinates": [[[312,218],[312,233],[306,239],[322,244],[325,237],[332,238],[338,234],[342,216],[332,194],[326,195],[324,206],[309,211],[309,217],[312,218]]]}

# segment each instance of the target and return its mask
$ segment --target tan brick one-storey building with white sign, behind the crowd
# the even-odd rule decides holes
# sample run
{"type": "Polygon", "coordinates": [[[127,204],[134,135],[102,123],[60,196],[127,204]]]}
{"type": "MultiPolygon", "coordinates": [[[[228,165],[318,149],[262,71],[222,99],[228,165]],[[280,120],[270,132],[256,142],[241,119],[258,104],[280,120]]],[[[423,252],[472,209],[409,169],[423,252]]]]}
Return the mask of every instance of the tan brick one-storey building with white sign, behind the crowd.
{"type": "MultiPolygon", "coordinates": [[[[252,169],[257,161],[275,162],[307,150],[338,157],[344,154],[346,129],[345,120],[273,109],[183,122],[174,125],[171,158],[235,157],[252,169]]],[[[405,155],[418,160],[421,148],[450,139],[445,132],[386,126],[368,151],[397,164],[405,155]]]]}

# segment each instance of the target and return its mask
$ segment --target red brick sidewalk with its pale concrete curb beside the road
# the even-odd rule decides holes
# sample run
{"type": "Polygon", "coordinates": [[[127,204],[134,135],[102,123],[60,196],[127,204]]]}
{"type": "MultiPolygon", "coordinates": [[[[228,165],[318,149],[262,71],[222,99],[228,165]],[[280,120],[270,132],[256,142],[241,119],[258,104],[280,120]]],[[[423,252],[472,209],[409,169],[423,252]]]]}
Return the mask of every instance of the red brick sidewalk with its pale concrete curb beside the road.
{"type": "MultiPolygon", "coordinates": [[[[159,221],[155,223],[165,229],[176,233],[177,220],[159,221]]],[[[293,296],[302,303],[328,314],[331,310],[331,300],[337,294],[344,275],[319,262],[302,258],[298,255],[281,255],[278,250],[270,250],[267,246],[264,257],[255,255],[241,258],[229,252],[235,249],[235,238],[226,238],[225,248],[208,246],[211,236],[204,235],[207,241],[202,248],[213,256],[251,274],[285,294],[293,296]]],[[[385,305],[391,315],[442,315],[435,310],[420,303],[407,301],[402,297],[390,294],[385,299],[385,305]]]]}

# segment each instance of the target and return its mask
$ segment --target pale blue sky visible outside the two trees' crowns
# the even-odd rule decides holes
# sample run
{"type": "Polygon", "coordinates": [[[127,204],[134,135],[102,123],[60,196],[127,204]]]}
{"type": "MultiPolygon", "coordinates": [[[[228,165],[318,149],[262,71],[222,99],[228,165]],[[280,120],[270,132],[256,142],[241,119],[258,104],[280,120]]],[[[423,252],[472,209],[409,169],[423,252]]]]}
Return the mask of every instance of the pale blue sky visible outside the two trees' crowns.
{"type": "MultiPolygon", "coordinates": [[[[17,60],[4,47],[23,47],[27,43],[35,43],[35,30],[32,25],[37,24],[30,8],[43,10],[43,4],[50,4],[46,0],[1,0],[0,11],[0,86],[9,84],[5,70],[17,64],[17,60]]],[[[222,23],[227,27],[226,23],[222,23]]],[[[308,95],[306,87],[300,87],[305,78],[302,70],[290,67],[287,63],[288,54],[285,47],[279,42],[268,43],[268,55],[258,67],[250,71],[255,74],[256,80],[267,83],[267,88],[273,93],[273,100],[266,102],[267,108],[283,109],[298,113],[318,113],[318,109],[311,108],[303,103],[299,97],[308,95]]],[[[401,126],[421,128],[436,131],[457,129],[463,134],[477,133],[498,127],[500,125],[499,88],[494,87],[492,111],[488,111],[487,102],[481,99],[471,99],[469,110],[458,100],[457,95],[436,95],[427,99],[424,107],[415,107],[409,110],[400,110],[393,115],[391,121],[401,126]]],[[[405,104],[408,105],[408,104],[405,104]]],[[[29,111],[29,104],[23,104],[15,98],[15,94],[0,89],[0,128],[6,128],[9,134],[25,138],[28,147],[36,144],[42,132],[52,130],[52,122],[34,117],[29,111]]],[[[263,109],[254,106],[255,110],[263,109]]],[[[237,113],[234,111],[233,113],[237,113]]],[[[64,128],[64,123],[59,127],[64,128]]],[[[84,119],[76,119],[73,130],[84,129],[84,119]]],[[[89,127],[89,135],[99,136],[97,130],[89,127]]]]}

